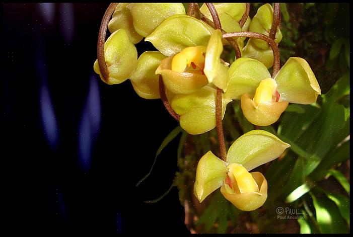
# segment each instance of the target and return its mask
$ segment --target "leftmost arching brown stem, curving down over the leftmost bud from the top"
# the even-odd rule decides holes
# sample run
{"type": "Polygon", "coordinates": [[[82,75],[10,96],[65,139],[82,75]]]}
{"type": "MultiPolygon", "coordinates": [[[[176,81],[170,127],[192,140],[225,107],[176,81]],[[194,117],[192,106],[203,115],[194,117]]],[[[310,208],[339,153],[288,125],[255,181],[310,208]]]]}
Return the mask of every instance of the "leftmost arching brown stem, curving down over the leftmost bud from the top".
{"type": "Polygon", "coordinates": [[[111,18],[111,15],[115,11],[115,8],[117,5],[118,5],[117,3],[111,3],[108,6],[107,10],[104,13],[104,16],[101,22],[101,27],[99,29],[99,34],[98,34],[97,59],[98,59],[99,70],[101,71],[102,77],[105,82],[108,82],[108,78],[109,78],[108,66],[104,58],[105,36],[107,33],[109,20],[111,18]]]}

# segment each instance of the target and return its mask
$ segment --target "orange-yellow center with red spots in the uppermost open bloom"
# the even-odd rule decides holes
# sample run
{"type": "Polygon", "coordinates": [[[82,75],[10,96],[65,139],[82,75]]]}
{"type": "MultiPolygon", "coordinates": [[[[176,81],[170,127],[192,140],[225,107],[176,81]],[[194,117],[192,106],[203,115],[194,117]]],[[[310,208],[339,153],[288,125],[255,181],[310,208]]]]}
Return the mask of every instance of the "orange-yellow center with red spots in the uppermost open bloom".
{"type": "Polygon", "coordinates": [[[203,70],[206,47],[193,46],[187,47],[177,53],[172,60],[172,70],[176,72],[184,72],[187,67],[192,66],[193,69],[198,67],[203,70]]]}

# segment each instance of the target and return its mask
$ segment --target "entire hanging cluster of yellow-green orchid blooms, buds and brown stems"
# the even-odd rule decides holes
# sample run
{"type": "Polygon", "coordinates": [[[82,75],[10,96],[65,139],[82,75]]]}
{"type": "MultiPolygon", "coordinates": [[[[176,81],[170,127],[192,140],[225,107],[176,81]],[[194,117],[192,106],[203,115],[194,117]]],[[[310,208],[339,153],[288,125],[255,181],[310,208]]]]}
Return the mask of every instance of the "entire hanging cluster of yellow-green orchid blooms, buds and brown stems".
{"type": "Polygon", "coordinates": [[[275,135],[252,130],[225,151],[222,119],[227,104],[240,100],[254,125],[275,123],[289,103],[312,104],[321,94],[308,62],[291,57],[279,67],[282,39],[279,4],[261,6],[253,19],[249,4],[111,4],[102,22],[94,70],[109,85],[130,80],[138,96],[162,98],[168,111],[189,134],[217,126],[222,159],[211,151],[198,162],[194,194],[202,202],[221,187],[237,208],[251,211],[267,198],[267,181],[250,170],[268,163],[290,145],[275,135]],[[108,16],[108,17],[106,17],[108,16]],[[244,45],[245,39],[249,40],[244,45]],[[158,51],[139,56],[135,44],[149,41],[158,51]],[[104,38],[105,39],[105,38],[104,38]],[[221,58],[231,45],[235,60],[221,58]],[[103,51],[104,50],[104,51],[103,51]],[[272,68],[272,75],[268,68],[272,68]]]}

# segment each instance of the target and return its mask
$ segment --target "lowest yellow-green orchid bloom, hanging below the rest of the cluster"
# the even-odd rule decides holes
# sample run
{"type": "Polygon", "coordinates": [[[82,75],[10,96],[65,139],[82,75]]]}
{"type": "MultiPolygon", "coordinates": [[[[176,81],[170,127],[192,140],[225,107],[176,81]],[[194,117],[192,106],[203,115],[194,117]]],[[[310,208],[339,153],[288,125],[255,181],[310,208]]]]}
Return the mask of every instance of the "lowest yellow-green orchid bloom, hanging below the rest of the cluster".
{"type": "Polygon", "coordinates": [[[208,151],[197,164],[196,198],[202,202],[221,187],[223,196],[238,209],[259,208],[267,199],[267,181],[260,172],[249,171],[276,159],[288,147],[288,143],[269,132],[252,130],[234,141],[226,161],[208,151]]]}

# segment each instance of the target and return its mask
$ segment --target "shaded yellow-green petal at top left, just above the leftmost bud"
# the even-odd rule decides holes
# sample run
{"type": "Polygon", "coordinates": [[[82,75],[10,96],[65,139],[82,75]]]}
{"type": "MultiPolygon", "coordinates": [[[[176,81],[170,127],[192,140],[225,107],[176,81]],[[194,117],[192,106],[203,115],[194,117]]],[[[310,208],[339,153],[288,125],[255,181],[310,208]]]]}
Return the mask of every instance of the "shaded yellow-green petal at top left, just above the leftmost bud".
{"type": "Polygon", "coordinates": [[[126,30],[131,43],[137,44],[144,37],[137,34],[132,24],[132,16],[130,11],[126,8],[128,4],[119,3],[116,6],[112,19],[109,21],[108,29],[110,33],[114,33],[119,29],[126,30]]]}

